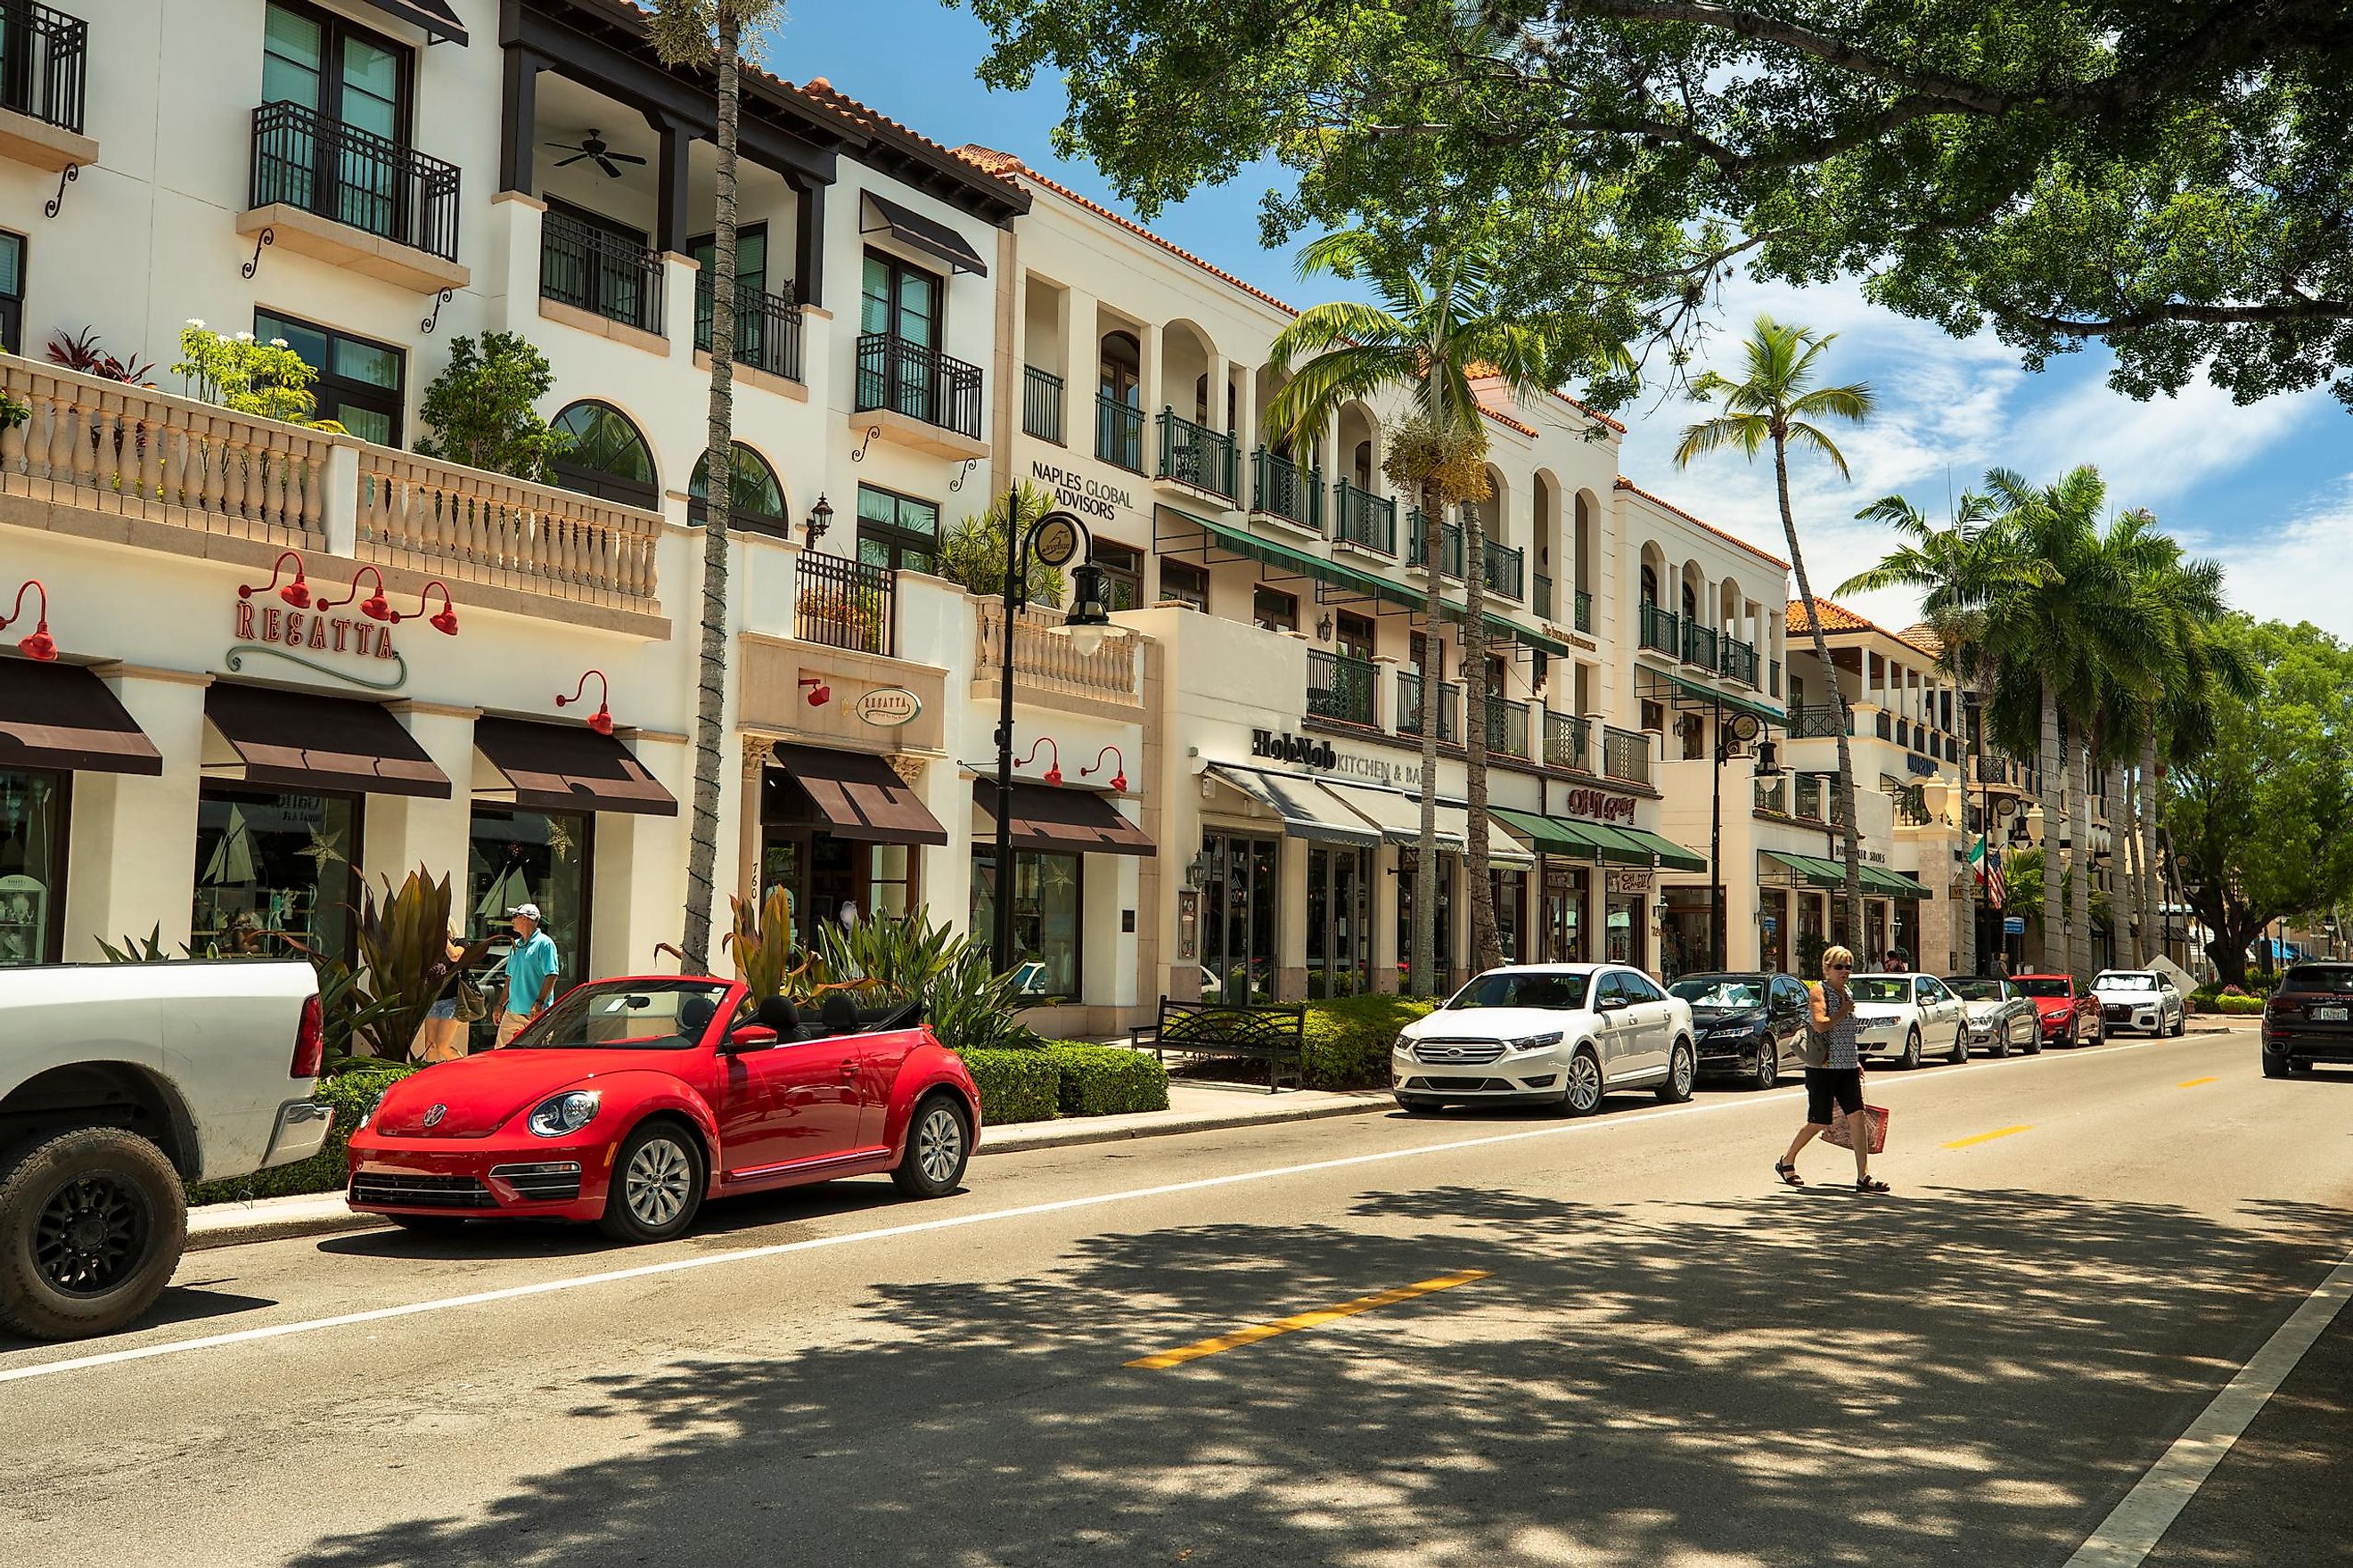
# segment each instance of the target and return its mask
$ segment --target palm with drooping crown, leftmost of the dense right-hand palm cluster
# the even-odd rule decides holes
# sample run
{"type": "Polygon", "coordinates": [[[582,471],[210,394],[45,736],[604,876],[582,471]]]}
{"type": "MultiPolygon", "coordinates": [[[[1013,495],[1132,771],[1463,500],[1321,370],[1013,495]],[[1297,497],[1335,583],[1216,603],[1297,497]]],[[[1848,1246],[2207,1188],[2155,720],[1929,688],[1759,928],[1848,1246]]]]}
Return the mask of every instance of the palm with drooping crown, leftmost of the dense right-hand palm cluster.
{"type": "MultiPolygon", "coordinates": [[[[1937,668],[1965,693],[1962,708],[1974,708],[1967,698],[1981,698],[1986,689],[1986,616],[1993,602],[2047,581],[2049,564],[2026,555],[2017,529],[2005,527],[1993,503],[1977,491],[1960,496],[1953,520],[1941,529],[1904,496],[1880,496],[1857,517],[1885,522],[1906,543],[1882,555],[1878,567],[1840,583],[1838,592],[1920,590],[1920,618],[1937,632],[1937,668]]],[[[1958,762],[1958,799],[1960,820],[1967,823],[1967,752],[1958,762]]],[[[1991,823],[1984,830],[1991,837],[1991,823]]],[[[1974,872],[1962,872],[1960,879],[1960,966],[1965,973],[1979,969],[1974,872]]]]}

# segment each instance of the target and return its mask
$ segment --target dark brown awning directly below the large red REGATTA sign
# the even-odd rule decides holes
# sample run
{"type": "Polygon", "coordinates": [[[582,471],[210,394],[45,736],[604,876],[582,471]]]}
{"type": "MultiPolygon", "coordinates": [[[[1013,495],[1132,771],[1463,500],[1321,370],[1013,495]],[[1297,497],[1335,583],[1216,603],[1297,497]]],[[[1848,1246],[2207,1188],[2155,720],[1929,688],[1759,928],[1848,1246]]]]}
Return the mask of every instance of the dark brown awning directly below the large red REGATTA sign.
{"type": "Polygon", "coordinates": [[[205,722],[226,743],[205,738],[209,778],[449,799],[449,776],[374,703],[214,682],[205,691],[205,722]]]}

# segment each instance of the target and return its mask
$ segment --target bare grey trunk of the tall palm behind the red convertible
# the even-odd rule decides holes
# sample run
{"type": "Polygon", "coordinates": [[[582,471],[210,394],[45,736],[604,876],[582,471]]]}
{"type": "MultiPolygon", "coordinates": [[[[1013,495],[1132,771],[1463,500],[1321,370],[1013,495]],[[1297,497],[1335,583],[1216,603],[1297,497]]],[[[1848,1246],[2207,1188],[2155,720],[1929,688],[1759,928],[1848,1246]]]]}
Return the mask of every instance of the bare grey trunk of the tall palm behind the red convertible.
{"type": "MultiPolygon", "coordinates": [[[[741,110],[741,24],[718,7],[718,223],[711,240],[711,477],[704,491],[701,672],[694,701],[694,823],[687,832],[687,929],[680,969],[711,969],[711,905],[718,896],[720,748],[727,733],[727,522],[734,510],[734,268],[736,268],[736,120],[741,110]]],[[[746,790],[744,811],[758,811],[746,790]]]]}

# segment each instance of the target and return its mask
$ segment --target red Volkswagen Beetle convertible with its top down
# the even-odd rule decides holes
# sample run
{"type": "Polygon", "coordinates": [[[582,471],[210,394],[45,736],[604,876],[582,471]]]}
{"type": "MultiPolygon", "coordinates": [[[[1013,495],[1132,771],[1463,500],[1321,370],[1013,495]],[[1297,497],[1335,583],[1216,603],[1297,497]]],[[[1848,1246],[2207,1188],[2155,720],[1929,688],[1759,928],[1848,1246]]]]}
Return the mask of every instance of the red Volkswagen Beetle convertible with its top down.
{"type": "Polygon", "coordinates": [[[351,1206],[409,1229],[595,1220],[666,1241],[706,1197],[889,1171],[955,1190],[981,1128],[920,1004],[819,1020],[736,980],[576,985],[504,1051],[414,1072],[351,1135],[351,1206]]]}

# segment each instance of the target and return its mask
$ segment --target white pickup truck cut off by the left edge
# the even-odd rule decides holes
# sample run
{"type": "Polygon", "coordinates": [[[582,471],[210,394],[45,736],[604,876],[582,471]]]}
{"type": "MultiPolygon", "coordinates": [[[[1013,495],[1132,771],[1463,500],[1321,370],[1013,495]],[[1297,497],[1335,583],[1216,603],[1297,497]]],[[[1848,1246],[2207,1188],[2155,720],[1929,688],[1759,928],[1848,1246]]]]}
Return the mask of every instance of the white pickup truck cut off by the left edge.
{"type": "Polygon", "coordinates": [[[181,1180],[327,1140],[322,1044],[304,961],[0,969],[0,1331],[73,1340],[155,1305],[181,1180]]]}

